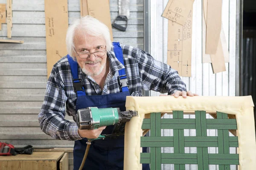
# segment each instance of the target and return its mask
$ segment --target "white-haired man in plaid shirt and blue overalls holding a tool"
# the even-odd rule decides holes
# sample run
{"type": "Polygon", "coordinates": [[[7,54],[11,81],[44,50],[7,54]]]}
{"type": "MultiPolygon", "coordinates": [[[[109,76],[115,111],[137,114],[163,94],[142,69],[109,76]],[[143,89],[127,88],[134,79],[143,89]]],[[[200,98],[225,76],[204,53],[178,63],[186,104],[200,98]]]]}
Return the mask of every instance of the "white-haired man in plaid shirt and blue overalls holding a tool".
{"type": "MultiPolygon", "coordinates": [[[[175,97],[196,95],[186,92],[186,85],[169,65],[140,48],[112,43],[108,27],[93,17],[76,20],[67,30],[66,43],[68,55],[52,68],[38,120],[44,133],[75,141],[75,170],[83,159],[86,138],[110,134],[113,127],[79,130],[76,123],[64,119],[66,113],[76,120],[76,111],[81,108],[125,111],[126,96],[142,96],[143,89],[175,97]]],[[[123,157],[124,136],[94,140],[84,169],[122,170],[123,157]]],[[[143,164],[143,170],[148,169],[149,165],[143,164]]]]}

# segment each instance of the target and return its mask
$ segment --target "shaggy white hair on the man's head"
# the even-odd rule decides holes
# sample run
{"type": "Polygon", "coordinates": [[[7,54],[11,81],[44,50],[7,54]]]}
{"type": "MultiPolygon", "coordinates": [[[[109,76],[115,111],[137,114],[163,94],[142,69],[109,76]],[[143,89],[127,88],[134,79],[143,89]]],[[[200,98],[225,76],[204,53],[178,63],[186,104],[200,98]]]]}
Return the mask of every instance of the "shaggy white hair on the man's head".
{"type": "Polygon", "coordinates": [[[73,59],[75,59],[75,57],[73,56],[73,54],[75,54],[74,37],[75,37],[76,31],[80,31],[80,30],[83,31],[85,34],[89,34],[91,36],[103,37],[106,42],[106,51],[110,51],[111,48],[113,47],[108,27],[104,23],[97,20],[96,18],[87,15],[87,16],[81,17],[80,19],[76,19],[72,23],[72,25],[70,25],[69,28],[67,29],[67,35],[66,35],[67,53],[73,59]]]}

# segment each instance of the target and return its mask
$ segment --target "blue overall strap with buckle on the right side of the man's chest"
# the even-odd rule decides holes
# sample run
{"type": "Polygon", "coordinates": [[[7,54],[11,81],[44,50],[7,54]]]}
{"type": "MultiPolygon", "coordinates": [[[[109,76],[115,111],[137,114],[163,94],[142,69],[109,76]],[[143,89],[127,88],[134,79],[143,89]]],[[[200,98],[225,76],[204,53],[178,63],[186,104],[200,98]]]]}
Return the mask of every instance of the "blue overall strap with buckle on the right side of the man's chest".
{"type": "MultiPolygon", "coordinates": [[[[122,63],[122,65],[125,65],[122,48],[121,48],[119,42],[113,42],[113,46],[114,46],[113,49],[114,49],[116,58],[118,59],[119,62],[122,63]]],[[[128,79],[125,74],[125,68],[119,70],[118,73],[119,73],[119,85],[121,86],[122,91],[129,91],[128,85],[127,85],[128,79]]]]}

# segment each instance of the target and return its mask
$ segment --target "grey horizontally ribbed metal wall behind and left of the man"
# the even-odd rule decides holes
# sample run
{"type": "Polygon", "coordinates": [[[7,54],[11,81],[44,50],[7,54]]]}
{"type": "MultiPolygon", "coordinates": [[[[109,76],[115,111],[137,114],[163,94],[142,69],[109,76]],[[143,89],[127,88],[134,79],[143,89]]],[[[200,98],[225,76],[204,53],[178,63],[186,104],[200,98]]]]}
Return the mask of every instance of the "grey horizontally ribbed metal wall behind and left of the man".
{"type": "MultiPolygon", "coordinates": [[[[110,9],[113,21],[118,0],[110,0],[110,9]]],[[[73,147],[47,136],[38,124],[47,82],[44,0],[12,0],[12,11],[12,39],[24,43],[0,44],[0,141],[15,147],[73,147]]],[[[79,18],[80,0],[68,0],[68,11],[69,23],[79,18]]],[[[143,0],[130,0],[130,11],[127,31],[113,28],[114,41],[143,48],[143,0]]],[[[2,27],[0,39],[7,39],[7,26],[2,27]]]]}

